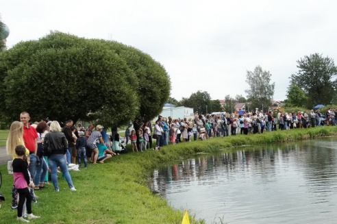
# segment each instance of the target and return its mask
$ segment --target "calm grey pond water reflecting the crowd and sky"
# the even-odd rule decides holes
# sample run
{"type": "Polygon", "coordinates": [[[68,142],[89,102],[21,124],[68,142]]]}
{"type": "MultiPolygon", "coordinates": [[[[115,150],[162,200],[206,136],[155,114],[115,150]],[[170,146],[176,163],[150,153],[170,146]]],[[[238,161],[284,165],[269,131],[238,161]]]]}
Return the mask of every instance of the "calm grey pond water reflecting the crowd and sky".
{"type": "Polygon", "coordinates": [[[337,138],[200,155],[153,176],[153,192],[206,223],[337,223],[337,138]]]}

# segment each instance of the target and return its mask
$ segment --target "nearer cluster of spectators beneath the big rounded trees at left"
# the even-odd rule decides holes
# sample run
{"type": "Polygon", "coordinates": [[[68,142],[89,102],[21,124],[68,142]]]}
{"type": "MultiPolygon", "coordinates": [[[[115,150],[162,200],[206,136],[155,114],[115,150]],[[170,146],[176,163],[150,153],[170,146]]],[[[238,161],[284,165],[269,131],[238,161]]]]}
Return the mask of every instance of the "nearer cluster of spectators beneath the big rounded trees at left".
{"type": "Polygon", "coordinates": [[[28,223],[40,216],[32,214],[32,202],[36,202],[36,190],[45,188],[50,179],[55,192],[59,192],[58,168],[71,191],[76,191],[68,167],[78,158],[79,167],[88,161],[103,163],[126,150],[117,134],[109,138],[103,126],[89,125],[84,129],[73,121],[66,121],[64,127],[58,121],[40,121],[32,125],[27,112],[20,114],[20,121],[10,125],[6,151],[12,155],[9,173],[13,174],[12,209],[17,209],[17,220],[28,223]],[[27,218],[27,219],[25,219],[27,218]]]}

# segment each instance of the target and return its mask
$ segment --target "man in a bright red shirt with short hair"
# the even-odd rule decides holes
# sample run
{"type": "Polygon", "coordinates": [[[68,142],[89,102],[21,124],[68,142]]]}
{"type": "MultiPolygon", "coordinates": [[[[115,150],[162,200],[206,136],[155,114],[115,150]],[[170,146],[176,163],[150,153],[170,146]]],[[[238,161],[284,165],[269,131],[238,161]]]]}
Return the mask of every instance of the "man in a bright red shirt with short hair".
{"type": "MultiPolygon", "coordinates": [[[[25,147],[29,150],[29,165],[28,171],[32,179],[35,177],[36,165],[40,163],[40,158],[36,155],[38,153],[38,132],[36,129],[29,125],[30,116],[27,112],[21,112],[20,121],[23,123],[23,141],[25,147]]],[[[34,190],[31,190],[33,201],[36,201],[34,190]]]]}

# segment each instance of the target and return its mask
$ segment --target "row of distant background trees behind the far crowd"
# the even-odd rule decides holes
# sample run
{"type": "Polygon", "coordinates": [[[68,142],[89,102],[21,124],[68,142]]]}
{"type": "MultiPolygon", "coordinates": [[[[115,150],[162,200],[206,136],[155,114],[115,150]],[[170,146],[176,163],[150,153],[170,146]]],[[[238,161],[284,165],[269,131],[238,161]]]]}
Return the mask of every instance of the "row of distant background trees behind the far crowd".
{"type": "MultiPolygon", "coordinates": [[[[314,53],[297,61],[299,71],[290,77],[287,91],[286,107],[312,109],[314,105],[329,105],[337,103],[336,71],[332,58],[314,53]]],[[[245,90],[247,99],[242,95],[225,96],[225,105],[221,107],[219,100],[212,100],[208,92],[197,91],[181,101],[170,98],[174,105],[184,105],[194,108],[195,112],[233,112],[236,103],[246,103],[246,110],[254,108],[269,108],[272,106],[275,83],[271,83],[271,73],[256,66],[254,71],[247,71],[249,89],[245,90]]]]}

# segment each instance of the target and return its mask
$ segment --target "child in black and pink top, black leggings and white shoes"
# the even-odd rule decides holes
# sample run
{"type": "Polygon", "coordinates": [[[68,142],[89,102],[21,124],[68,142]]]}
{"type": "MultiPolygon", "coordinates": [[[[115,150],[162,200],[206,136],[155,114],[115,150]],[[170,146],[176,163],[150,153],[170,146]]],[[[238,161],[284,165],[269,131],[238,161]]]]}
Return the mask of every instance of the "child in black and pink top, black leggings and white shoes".
{"type": "Polygon", "coordinates": [[[28,219],[38,219],[40,216],[35,216],[32,213],[32,195],[29,192],[28,187],[34,188],[34,183],[30,181],[28,173],[28,163],[25,160],[26,148],[23,145],[18,145],[15,147],[16,158],[13,160],[13,178],[14,185],[18,190],[18,221],[23,221],[29,223],[27,219],[23,219],[23,206],[26,202],[27,206],[27,218],[28,219]]]}

